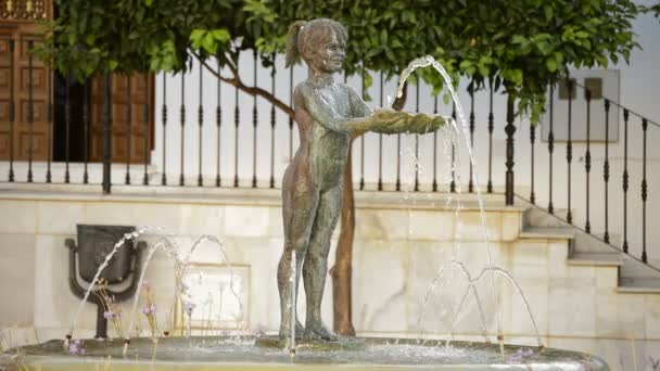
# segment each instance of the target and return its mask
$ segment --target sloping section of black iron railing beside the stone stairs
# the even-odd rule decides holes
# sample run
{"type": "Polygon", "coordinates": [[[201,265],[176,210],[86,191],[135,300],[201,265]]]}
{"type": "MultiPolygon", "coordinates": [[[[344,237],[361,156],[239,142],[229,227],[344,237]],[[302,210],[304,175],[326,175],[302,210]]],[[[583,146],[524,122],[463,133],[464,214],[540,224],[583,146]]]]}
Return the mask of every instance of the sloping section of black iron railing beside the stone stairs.
{"type": "MultiPolygon", "coordinates": [[[[566,197],[566,216],[559,216],[564,221],[572,223],[575,228],[597,238],[598,240],[610,244],[612,247],[620,250],[623,253],[629,254],[635,259],[638,259],[643,263],[649,263],[649,256],[647,252],[647,241],[648,233],[647,230],[647,220],[648,220],[648,201],[649,201],[649,181],[648,181],[648,137],[651,132],[649,132],[649,126],[660,128],[660,125],[656,121],[650,120],[649,118],[631,111],[630,108],[624,107],[623,105],[606,98],[601,97],[598,101],[602,102],[600,107],[594,106],[594,98],[593,92],[584,85],[578,84],[572,79],[568,79],[566,82],[566,89],[568,89],[568,116],[566,118],[564,125],[567,127],[567,138],[566,138],[566,168],[567,168],[567,197],[566,197]],[[584,118],[575,117],[573,113],[574,108],[574,97],[579,95],[576,93],[579,91],[584,95],[585,102],[585,116],[584,118]],[[593,112],[595,110],[601,110],[604,119],[601,121],[593,120],[593,112]],[[612,112],[614,111],[614,112],[612,112]],[[610,137],[611,132],[611,121],[612,117],[621,117],[623,121],[622,130],[623,138],[619,146],[620,155],[615,157],[620,164],[613,166],[612,161],[612,145],[613,143],[610,137]],[[574,192],[576,190],[575,182],[575,174],[572,172],[572,162],[574,159],[575,152],[575,142],[573,139],[573,135],[575,133],[574,123],[579,119],[584,120],[584,141],[583,141],[583,150],[584,155],[581,156],[581,161],[584,162],[584,191],[580,193],[580,197],[584,197],[584,206],[575,205],[572,199],[575,197],[574,192]],[[593,131],[594,128],[604,129],[605,139],[602,142],[598,143],[598,146],[601,148],[602,153],[602,183],[601,186],[594,187],[594,179],[592,179],[592,169],[594,166],[594,140],[593,140],[593,131]],[[637,145],[631,145],[631,140],[633,136],[642,137],[640,143],[637,145]],[[633,152],[636,152],[633,155],[633,152]],[[633,171],[633,167],[635,163],[640,163],[639,168],[635,168],[633,171]],[[620,171],[621,176],[621,192],[612,196],[612,188],[610,187],[612,171],[617,168],[620,171]],[[638,180],[633,180],[633,174],[637,174],[635,177],[638,180]],[[631,203],[635,202],[635,200],[631,196],[631,184],[635,181],[639,181],[640,193],[639,199],[634,205],[631,203]],[[602,190],[602,199],[594,200],[594,192],[598,189],[602,190]],[[620,204],[619,204],[620,202],[620,204]],[[621,228],[615,230],[620,236],[620,241],[614,241],[612,239],[612,230],[611,230],[611,216],[612,216],[612,205],[620,205],[621,209],[615,214],[615,220],[621,221],[621,228]],[[596,212],[594,212],[594,207],[597,207],[596,212]],[[635,210],[635,212],[633,212],[635,210]],[[582,215],[582,221],[584,225],[578,225],[574,212],[580,212],[582,215]],[[633,217],[633,219],[640,219],[640,222],[631,222],[631,213],[639,213],[633,217]],[[594,216],[600,215],[602,217],[602,221],[598,221],[594,219],[594,216]],[[599,231],[594,229],[594,223],[599,223],[602,228],[599,231]],[[581,227],[584,226],[584,227],[581,227]],[[635,243],[632,241],[635,240],[635,243]],[[633,245],[636,248],[633,250],[633,245]]],[[[547,136],[548,142],[548,194],[547,194],[547,212],[550,214],[557,215],[557,205],[553,199],[553,191],[556,188],[556,175],[554,174],[554,151],[556,145],[556,129],[557,125],[561,123],[555,123],[554,107],[555,107],[555,95],[556,87],[549,87],[550,91],[550,100],[548,102],[548,124],[549,124],[549,132],[547,136]]],[[[534,129],[531,129],[531,156],[534,156],[534,129]]],[[[656,129],[656,132],[658,129],[656,129]]],[[[581,149],[582,150],[582,149],[581,149]]],[[[534,163],[532,159],[532,177],[534,175],[540,175],[542,171],[537,171],[534,169],[534,163]]],[[[597,181],[597,180],[596,180],[597,181]]],[[[532,180],[532,192],[526,201],[534,203],[534,182],[532,180]]],[[[525,199],[525,197],[521,197],[525,199]]]]}

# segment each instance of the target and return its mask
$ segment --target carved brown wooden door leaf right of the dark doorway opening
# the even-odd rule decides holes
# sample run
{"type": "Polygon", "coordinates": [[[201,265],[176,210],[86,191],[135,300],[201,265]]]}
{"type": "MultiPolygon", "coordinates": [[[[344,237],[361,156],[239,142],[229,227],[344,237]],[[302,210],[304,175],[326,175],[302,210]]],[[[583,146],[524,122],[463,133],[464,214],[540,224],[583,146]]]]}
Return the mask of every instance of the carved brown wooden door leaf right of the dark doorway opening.
{"type": "MultiPolygon", "coordinates": [[[[96,78],[91,86],[91,152],[90,161],[103,159],[103,88],[104,78],[96,78]]],[[[153,76],[113,74],[112,140],[113,163],[142,164],[153,149],[153,76]],[[144,104],[149,117],[144,120],[144,104]],[[147,153],[144,152],[147,151],[147,153]],[[147,155],[147,157],[145,157],[147,155]],[[127,157],[128,156],[128,157],[127,157]]]]}

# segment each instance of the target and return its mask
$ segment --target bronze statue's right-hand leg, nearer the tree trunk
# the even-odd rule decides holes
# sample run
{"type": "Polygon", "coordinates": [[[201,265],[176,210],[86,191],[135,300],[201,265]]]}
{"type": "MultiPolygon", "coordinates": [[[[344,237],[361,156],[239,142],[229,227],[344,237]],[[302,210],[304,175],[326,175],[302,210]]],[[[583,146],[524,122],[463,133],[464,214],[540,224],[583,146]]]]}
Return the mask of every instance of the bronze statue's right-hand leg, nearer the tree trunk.
{"type": "Polygon", "coordinates": [[[305,320],[305,337],[335,340],[321,322],[321,300],[326,276],[328,276],[328,253],[330,239],[342,208],[341,183],[320,194],[316,219],[312,228],[309,248],[303,266],[305,293],[307,295],[307,316],[305,320]]]}

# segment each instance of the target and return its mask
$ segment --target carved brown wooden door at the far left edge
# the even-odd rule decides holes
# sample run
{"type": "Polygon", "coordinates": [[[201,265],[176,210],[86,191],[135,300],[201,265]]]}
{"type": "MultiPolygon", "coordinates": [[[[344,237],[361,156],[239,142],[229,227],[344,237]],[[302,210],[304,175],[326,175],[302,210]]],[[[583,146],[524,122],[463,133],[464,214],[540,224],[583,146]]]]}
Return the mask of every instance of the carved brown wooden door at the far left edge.
{"type": "Polygon", "coordinates": [[[37,22],[52,18],[51,1],[0,0],[0,159],[10,158],[10,143],[13,141],[15,161],[25,161],[31,151],[34,161],[46,161],[49,136],[48,104],[51,71],[37,57],[33,57],[31,91],[34,123],[28,123],[29,52],[28,41],[39,42],[37,22]],[[8,4],[11,3],[11,7],[8,4]],[[13,59],[10,51],[14,41],[13,59]],[[13,60],[13,68],[12,68],[13,60]],[[10,81],[14,80],[13,136],[10,125],[10,81]]]}

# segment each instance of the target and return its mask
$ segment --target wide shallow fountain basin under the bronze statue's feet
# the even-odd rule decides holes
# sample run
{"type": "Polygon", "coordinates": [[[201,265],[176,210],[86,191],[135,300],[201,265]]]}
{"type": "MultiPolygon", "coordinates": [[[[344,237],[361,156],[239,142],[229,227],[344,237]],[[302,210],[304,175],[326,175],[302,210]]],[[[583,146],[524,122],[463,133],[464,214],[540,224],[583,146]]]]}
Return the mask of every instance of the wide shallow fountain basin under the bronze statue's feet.
{"type": "MultiPolygon", "coordinates": [[[[163,337],[131,340],[126,357],[123,340],[84,342],[85,355],[72,356],[62,341],[20,348],[30,370],[609,370],[595,356],[578,351],[486,343],[395,338],[357,338],[345,343],[301,343],[288,350],[255,337],[163,337]],[[155,350],[155,355],[154,355],[155,350]]],[[[16,350],[0,355],[2,366],[18,369],[16,350]]]]}

